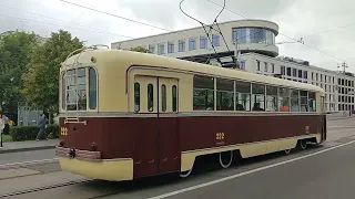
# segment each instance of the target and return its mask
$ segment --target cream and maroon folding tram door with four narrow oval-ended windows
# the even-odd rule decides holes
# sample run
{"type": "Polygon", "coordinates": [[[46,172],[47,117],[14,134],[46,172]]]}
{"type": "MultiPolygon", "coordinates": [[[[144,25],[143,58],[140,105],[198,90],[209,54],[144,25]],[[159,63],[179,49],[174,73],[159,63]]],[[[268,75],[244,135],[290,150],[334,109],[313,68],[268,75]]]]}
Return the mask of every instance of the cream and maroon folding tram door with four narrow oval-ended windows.
{"type": "Polygon", "coordinates": [[[134,177],[180,170],[178,80],[135,76],[132,87],[134,177]]]}

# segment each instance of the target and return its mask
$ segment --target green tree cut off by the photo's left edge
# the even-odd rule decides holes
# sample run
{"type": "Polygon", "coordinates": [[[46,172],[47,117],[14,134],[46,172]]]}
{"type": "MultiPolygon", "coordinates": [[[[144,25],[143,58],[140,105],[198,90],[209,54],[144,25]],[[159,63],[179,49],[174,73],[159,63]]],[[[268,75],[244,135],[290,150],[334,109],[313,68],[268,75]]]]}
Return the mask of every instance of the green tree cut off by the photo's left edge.
{"type": "Polygon", "coordinates": [[[38,45],[37,35],[20,31],[0,35],[0,105],[4,113],[17,121],[18,103],[24,97],[21,74],[30,61],[30,54],[38,45]]]}

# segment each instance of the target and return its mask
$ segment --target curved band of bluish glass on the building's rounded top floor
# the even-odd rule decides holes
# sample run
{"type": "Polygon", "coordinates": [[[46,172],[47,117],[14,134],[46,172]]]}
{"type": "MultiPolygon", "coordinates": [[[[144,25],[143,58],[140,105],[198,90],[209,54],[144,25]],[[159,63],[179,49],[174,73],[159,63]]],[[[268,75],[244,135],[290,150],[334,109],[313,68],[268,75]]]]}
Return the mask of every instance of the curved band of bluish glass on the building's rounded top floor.
{"type": "Polygon", "coordinates": [[[237,43],[263,43],[275,44],[275,34],[261,28],[236,28],[233,29],[233,41],[237,43]]]}

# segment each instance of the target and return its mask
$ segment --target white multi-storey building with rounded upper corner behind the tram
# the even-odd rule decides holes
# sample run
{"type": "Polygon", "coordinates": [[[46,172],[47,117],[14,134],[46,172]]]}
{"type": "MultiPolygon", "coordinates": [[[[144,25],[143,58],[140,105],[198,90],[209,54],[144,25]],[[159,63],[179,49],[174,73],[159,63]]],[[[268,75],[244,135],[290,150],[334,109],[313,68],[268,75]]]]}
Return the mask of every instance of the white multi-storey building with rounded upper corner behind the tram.
{"type": "Polygon", "coordinates": [[[237,49],[241,70],[264,75],[278,75],[290,81],[314,84],[325,90],[326,108],[334,111],[354,111],[355,77],[310,65],[308,62],[278,56],[275,36],[278,25],[265,20],[237,20],[220,23],[209,38],[202,27],[169,32],[152,36],[126,40],[111,44],[111,49],[130,50],[142,46],[151,53],[216,64],[216,57],[223,62],[232,61],[237,49]],[[225,40],[225,42],[224,42],[225,40]],[[213,43],[214,52],[211,42],[213,43]],[[235,45],[237,43],[237,48],[235,45]],[[226,44],[225,44],[226,43],[226,44]],[[278,57],[277,57],[278,56],[278,57]]]}

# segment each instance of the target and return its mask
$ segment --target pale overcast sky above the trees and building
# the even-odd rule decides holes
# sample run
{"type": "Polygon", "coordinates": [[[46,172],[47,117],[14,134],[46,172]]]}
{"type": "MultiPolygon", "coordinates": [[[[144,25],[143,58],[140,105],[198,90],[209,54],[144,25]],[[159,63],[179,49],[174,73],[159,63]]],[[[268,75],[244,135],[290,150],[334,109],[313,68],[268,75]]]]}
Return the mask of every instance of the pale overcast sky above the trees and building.
{"type": "MultiPolygon", "coordinates": [[[[185,0],[183,8],[202,22],[212,23],[221,9],[215,3],[223,4],[223,0],[185,0]]],[[[0,32],[19,29],[50,36],[62,29],[88,44],[110,46],[112,42],[200,25],[181,13],[179,4],[180,0],[1,0],[0,32]]],[[[276,22],[280,27],[276,42],[292,42],[290,38],[304,41],[304,44],[280,44],[280,55],[328,70],[341,70],[337,65],[346,62],[346,70],[355,72],[354,6],[351,0],[226,0],[229,10],[223,11],[219,22],[245,18],[276,22]]]]}

